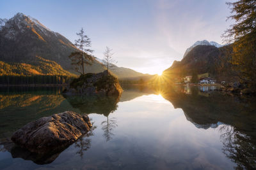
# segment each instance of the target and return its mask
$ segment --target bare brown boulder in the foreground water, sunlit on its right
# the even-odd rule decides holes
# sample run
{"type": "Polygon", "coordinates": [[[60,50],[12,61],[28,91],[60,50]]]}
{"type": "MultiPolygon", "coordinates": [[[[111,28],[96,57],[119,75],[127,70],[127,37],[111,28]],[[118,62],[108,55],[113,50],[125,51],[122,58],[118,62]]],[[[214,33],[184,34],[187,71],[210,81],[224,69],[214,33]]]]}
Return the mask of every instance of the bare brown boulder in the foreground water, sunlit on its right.
{"type": "Polygon", "coordinates": [[[92,124],[87,115],[65,111],[42,117],[14,132],[12,141],[35,153],[61,150],[90,131],[92,124]]]}

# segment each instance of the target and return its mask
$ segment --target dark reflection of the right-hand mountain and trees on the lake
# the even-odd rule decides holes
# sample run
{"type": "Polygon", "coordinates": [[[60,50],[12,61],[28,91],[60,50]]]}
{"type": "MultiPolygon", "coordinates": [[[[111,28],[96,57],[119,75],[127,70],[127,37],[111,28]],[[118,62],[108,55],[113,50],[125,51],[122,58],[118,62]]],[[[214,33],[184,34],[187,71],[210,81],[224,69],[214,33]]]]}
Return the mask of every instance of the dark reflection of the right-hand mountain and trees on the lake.
{"type": "Polygon", "coordinates": [[[230,97],[213,92],[216,88],[157,87],[174,108],[181,108],[197,128],[220,125],[223,153],[237,164],[236,169],[256,168],[255,97],[230,97]]]}

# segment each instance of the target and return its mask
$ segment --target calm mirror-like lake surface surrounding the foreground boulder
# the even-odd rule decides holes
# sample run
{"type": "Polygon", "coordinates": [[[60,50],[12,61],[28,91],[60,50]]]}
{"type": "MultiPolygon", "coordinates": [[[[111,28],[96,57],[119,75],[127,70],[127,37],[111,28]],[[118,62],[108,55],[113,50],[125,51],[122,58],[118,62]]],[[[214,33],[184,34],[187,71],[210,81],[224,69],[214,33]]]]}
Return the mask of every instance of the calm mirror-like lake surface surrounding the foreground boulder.
{"type": "Polygon", "coordinates": [[[127,86],[116,99],[1,87],[0,169],[255,169],[255,97],[215,89],[127,86]],[[76,143],[44,157],[13,148],[17,129],[67,110],[93,123],[76,143]]]}

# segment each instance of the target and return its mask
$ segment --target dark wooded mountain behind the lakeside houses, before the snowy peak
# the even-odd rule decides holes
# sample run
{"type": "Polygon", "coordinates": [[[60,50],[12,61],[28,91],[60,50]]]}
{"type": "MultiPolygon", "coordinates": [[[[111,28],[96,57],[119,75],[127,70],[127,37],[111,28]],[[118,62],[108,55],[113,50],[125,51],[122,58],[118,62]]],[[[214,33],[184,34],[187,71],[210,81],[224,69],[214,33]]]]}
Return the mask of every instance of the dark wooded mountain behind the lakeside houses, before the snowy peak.
{"type": "Polygon", "coordinates": [[[217,48],[212,45],[197,45],[180,61],[174,61],[163,74],[173,81],[180,81],[184,76],[209,73],[217,80],[228,80],[229,63],[225,56],[232,48],[229,45],[217,48]]]}

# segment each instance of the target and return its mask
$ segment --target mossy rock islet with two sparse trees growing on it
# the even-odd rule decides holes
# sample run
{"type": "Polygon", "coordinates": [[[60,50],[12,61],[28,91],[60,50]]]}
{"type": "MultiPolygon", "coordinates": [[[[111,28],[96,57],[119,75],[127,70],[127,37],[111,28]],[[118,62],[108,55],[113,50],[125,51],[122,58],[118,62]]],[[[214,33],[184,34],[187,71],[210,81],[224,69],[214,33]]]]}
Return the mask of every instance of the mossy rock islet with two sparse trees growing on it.
{"type": "Polygon", "coordinates": [[[82,74],[70,83],[63,94],[80,96],[120,96],[122,93],[118,79],[108,71],[82,74]]]}

